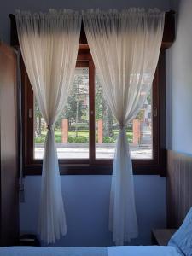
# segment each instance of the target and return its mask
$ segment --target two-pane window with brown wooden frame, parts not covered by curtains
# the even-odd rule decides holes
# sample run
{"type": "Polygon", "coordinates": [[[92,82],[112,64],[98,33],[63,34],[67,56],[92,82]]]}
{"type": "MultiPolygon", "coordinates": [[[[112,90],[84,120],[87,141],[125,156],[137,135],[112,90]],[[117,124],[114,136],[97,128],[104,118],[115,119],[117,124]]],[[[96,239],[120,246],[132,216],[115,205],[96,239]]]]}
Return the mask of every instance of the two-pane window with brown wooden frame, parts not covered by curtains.
{"type": "MultiPolygon", "coordinates": [[[[127,126],[133,170],[157,174],[165,168],[165,51],[143,108],[127,126]]],[[[41,173],[46,124],[24,67],[23,114],[26,174],[41,173]]],[[[79,47],[73,85],[55,124],[55,141],[61,173],[110,174],[118,124],[105,101],[88,47],[79,47]]]]}

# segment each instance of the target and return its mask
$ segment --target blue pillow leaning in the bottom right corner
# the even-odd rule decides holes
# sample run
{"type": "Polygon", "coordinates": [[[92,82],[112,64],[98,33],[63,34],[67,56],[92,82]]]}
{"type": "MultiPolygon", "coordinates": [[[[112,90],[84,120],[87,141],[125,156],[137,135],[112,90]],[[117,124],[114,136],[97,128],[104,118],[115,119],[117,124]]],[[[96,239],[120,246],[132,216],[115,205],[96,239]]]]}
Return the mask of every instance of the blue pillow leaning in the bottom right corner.
{"type": "Polygon", "coordinates": [[[171,237],[168,246],[177,247],[185,256],[192,255],[192,207],[184,218],[183,224],[171,237]]]}

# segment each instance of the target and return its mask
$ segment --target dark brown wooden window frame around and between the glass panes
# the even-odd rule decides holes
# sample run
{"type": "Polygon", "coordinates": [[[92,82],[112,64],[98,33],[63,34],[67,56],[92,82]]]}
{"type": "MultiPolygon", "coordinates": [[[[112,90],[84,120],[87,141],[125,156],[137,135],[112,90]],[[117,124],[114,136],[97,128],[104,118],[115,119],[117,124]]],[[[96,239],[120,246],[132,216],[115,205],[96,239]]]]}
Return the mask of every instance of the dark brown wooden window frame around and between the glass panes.
{"type": "MultiPolygon", "coordinates": [[[[18,48],[15,15],[9,15],[11,20],[11,45],[18,48]]],[[[166,177],[166,49],[170,47],[175,38],[174,12],[166,13],[164,35],[160,50],[160,58],[156,68],[153,82],[153,101],[157,108],[157,116],[153,117],[153,159],[132,160],[133,173],[141,175],[160,175],[166,177]]],[[[82,26],[79,39],[78,61],[89,63],[90,93],[94,90],[94,64],[90,49],[82,26]]],[[[33,109],[32,88],[26,74],[23,61],[21,61],[21,87],[22,87],[22,119],[23,119],[23,166],[25,175],[40,175],[42,160],[33,159],[33,119],[28,119],[29,109],[33,109]]],[[[91,98],[91,97],[90,97],[91,98]]],[[[94,98],[94,97],[93,97],[94,98]]],[[[95,110],[94,100],[90,100],[90,111],[95,110]]],[[[94,113],[95,115],[95,113],[94,113]]],[[[153,115],[153,114],[152,114],[153,115]]],[[[90,119],[90,129],[95,131],[95,119],[90,119]]],[[[95,132],[90,134],[90,144],[95,145],[95,132]]],[[[113,160],[96,160],[95,146],[90,147],[90,160],[59,160],[61,174],[106,174],[113,171],[113,160]]]]}

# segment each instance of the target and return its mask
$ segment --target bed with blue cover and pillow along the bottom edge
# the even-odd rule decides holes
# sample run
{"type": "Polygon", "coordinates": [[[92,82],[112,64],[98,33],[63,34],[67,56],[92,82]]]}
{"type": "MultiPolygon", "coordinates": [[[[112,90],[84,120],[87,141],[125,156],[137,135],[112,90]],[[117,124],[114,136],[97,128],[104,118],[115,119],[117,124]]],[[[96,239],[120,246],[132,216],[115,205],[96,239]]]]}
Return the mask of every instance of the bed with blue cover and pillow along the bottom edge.
{"type": "Polygon", "coordinates": [[[192,207],[168,246],[0,247],[0,256],[191,256],[192,207]]]}

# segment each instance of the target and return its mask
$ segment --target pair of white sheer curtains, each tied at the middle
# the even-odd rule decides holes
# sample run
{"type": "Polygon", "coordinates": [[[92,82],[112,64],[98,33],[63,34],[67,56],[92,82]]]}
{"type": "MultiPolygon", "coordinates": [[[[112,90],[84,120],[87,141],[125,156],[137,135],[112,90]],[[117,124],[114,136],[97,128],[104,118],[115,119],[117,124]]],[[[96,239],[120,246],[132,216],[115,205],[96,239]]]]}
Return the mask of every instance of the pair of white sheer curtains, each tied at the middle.
{"type": "MultiPolygon", "coordinates": [[[[143,106],[154,79],[164,28],[158,9],[83,12],[84,29],[109,107],[119,123],[113,161],[109,229],[123,245],[137,237],[131,155],[125,127],[143,106]]],[[[38,230],[55,242],[67,233],[55,148],[55,121],[67,102],[78,54],[81,15],[72,10],[16,13],[20,49],[47,123],[38,230]]]]}

